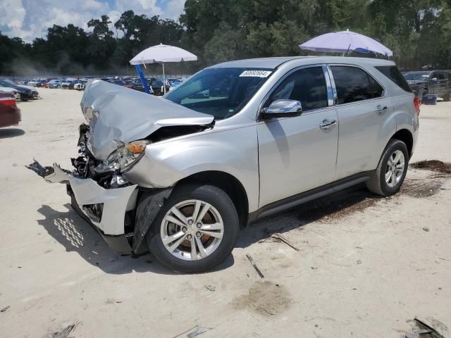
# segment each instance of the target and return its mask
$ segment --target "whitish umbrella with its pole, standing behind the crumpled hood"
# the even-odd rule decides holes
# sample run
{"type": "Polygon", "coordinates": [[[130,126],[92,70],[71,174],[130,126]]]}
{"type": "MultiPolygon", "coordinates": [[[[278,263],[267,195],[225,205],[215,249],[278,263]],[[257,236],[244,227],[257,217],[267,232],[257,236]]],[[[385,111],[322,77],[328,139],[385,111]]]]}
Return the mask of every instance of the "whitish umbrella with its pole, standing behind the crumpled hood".
{"type": "Polygon", "coordinates": [[[157,44],[141,51],[130,60],[132,65],[144,65],[146,63],[161,63],[163,65],[163,88],[166,93],[166,83],[164,78],[165,62],[197,61],[197,56],[176,46],[157,44]]]}

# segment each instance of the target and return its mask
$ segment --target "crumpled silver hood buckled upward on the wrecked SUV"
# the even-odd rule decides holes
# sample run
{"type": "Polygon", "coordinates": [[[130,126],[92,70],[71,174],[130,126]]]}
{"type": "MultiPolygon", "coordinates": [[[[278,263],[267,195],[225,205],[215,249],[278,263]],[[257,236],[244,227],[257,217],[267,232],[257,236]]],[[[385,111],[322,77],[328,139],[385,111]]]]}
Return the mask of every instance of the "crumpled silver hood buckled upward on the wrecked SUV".
{"type": "Polygon", "coordinates": [[[132,142],[161,127],[209,125],[214,120],[212,115],[102,80],[87,82],[80,106],[89,124],[87,146],[99,160],[118,148],[114,140],[132,142]]]}

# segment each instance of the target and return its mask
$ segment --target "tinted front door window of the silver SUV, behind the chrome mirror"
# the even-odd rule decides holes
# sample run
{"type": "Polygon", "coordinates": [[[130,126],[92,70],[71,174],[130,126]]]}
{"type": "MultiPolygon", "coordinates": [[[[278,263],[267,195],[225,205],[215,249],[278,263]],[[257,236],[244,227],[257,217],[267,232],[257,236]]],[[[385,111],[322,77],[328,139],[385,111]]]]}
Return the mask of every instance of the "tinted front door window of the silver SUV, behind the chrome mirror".
{"type": "Polygon", "coordinates": [[[321,66],[302,68],[288,75],[269,96],[265,106],[280,99],[299,101],[302,104],[302,111],[327,107],[327,87],[323,68],[321,66]]]}

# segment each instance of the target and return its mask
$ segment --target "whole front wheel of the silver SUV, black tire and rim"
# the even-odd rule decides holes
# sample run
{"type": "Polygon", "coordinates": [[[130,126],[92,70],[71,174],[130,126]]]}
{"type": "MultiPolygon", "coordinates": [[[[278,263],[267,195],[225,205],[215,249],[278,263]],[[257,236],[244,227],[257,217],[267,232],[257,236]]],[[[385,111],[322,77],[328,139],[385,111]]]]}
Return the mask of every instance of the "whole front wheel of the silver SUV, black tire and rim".
{"type": "Polygon", "coordinates": [[[175,188],[164,202],[146,234],[146,239],[156,260],[166,268],[183,273],[202,273],[222,263],[232,252],[238,227],[237,211],[226,192],[211,185],[186,184],[175,188]],[[202,217],[205,207],[208,211],[202,217]],[[185,216],[185,222],[179,217],[180,213],[173,213],[174,208],[183,214],[182,217],[185,216]],[[196,220],[192,222],[196,208],[199,223],[196,220]],[[174,221],[178,224],[168,218],[175,218],[174,221]],[[222,230],[216,229],[221,223],[222,230]],[[211,227],[211,230],[208,227],[211,227]],[[214,236],[206,234],[205,231],[214,236]],[[169,239],[174,235],[174,240],[169,239]],[[163,243],[163,238],[166,239],[166,244],[163,243]],[[172,242],[168,242],[171,240],[172,242]],[[202,244],[202,252],[199,242],[202,244]],[[195,247],[195,256],[192,244],[195,247]]]}

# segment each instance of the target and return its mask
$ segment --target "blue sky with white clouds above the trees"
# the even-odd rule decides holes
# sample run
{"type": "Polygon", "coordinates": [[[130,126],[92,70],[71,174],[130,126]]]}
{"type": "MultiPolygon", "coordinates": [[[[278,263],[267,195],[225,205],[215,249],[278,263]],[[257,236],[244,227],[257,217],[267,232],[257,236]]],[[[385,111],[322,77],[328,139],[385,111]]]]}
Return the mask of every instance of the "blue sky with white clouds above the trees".
{"type": "Polygon", "coordinates": [[[128,10],[177,20],[184,4],[185,0],[0,0],[0,32],[32,42],[45,37],[53,25],[73,23],[89,31],[90,19],[106,14],[115,23],[128,10]]]}

